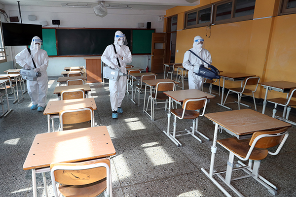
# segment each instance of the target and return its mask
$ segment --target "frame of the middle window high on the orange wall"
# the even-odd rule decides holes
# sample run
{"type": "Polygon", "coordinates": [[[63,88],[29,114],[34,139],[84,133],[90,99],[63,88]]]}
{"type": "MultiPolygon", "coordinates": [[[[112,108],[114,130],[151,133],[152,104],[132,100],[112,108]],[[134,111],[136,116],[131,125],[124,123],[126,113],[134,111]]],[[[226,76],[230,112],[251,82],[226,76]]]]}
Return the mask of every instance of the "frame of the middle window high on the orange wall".
{"type": "Polygon", "coordinates": [[[238,22],[238,21],[247,21],[247,20],[252,20],[254,17],[254,14],[246,15],[246,16],[239,16],[239,17],[234,17],[234,8],[236,6],[236,0],[224,0],[221,1],[217,4],[214,4],[214,16],[213,16],[213,23],[214,24],[223,24],[223,23],[233,23],[233,22],[238,22]],[[232,2],[232,7],[231,7],[231,14],[230,14],[230,19],[224,19],[220,21],[216,21],[217,17],[217,7],[219,5],[223,5],[226,3],[232,2]]]}

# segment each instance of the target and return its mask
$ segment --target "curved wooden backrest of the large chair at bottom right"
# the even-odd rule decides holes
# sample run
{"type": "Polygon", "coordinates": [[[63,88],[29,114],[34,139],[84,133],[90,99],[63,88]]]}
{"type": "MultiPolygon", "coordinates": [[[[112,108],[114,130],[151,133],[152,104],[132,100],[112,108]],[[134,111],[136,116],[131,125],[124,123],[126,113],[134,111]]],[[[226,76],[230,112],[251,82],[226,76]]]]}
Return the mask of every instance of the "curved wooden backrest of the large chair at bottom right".
{"type": "Polygon", "coordinates": [[[271,148],[280,144],[285,134],[289,135],[287,127],[275,131],[257,131],[253,133],[249,145],[256,143],[256,148],[271,148]]]}

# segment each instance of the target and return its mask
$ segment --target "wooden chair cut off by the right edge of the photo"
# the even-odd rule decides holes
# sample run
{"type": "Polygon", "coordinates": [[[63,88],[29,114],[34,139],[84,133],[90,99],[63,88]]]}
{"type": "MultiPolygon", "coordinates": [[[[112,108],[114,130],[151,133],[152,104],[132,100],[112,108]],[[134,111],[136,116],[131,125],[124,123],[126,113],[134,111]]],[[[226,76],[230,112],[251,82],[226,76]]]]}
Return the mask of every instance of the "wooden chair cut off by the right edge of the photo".
{"type": "Polygon", "coordinates": [[[272,118],[279,118],[279,117],[275,116],[276,111],[277,111],[276,107],[277,107],[277,105],[281,105],[281,106],[284,106],[284,111],[283,111],[283,117],[281,117],[280,120],[283,120],[283,121],[288,122],[290,124],[296,125],[295,122],[288,120],[289,115],[290,115],[290,111],[292,109],[291,106],[296,106],[296,101],[292,100],[292,98],[296,98],[296,88],[290,90],[289,98],[287,98],[287,99],[284,99],[284,98],[267,99],[267,102],[271,102],[274,104],[274,109],[272,110],[272,118]],[[285,117],[286,110],[287,110],[287,114],[285,117]]]}

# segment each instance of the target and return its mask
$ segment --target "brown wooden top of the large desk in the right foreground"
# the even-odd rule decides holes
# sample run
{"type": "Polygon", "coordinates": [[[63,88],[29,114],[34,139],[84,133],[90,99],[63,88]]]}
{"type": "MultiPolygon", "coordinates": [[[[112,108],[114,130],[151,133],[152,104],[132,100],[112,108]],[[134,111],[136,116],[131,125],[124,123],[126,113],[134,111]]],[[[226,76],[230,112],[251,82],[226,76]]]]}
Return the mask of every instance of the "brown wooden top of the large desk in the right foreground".
{"type": "Polygon", "coordinates": [[[252,109],[210,113],[205,114],[205,117],[237,135],[253,134],[255,131],[276,130],[292,126],[252,109]]]}

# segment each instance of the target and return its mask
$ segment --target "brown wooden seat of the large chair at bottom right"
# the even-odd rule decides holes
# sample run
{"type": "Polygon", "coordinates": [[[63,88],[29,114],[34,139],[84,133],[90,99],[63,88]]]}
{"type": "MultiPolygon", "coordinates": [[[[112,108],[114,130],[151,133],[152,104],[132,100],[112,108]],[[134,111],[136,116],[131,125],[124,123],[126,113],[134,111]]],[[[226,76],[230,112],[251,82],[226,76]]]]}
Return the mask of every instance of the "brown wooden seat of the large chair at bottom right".
{"type": "MultiPolygon", "coordinates": [[[[247,153],[250,149],[250,139],[237,139],[236,137],[219,139],[217,142],[224,148],[228,149],[232,153],[239,155],[240,157],[246,158],[247,153]]],[[[266,148],[254,148],[250,160],[262,160],[268,155],[266,148]]]]}

